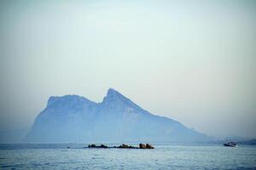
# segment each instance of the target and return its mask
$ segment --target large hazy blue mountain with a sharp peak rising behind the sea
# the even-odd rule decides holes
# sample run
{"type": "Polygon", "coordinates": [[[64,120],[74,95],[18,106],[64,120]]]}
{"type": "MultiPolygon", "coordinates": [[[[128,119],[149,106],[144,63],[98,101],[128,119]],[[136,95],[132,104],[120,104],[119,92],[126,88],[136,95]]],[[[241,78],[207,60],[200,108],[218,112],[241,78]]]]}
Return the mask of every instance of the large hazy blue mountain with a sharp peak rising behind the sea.
{"type": "Polygon", "coordinates": [[[28,143],[49,142],[206,142],[202,133],[143,110],[109,89],[101,103],[77,95],[50,97],[26,136],[28,143]]]}

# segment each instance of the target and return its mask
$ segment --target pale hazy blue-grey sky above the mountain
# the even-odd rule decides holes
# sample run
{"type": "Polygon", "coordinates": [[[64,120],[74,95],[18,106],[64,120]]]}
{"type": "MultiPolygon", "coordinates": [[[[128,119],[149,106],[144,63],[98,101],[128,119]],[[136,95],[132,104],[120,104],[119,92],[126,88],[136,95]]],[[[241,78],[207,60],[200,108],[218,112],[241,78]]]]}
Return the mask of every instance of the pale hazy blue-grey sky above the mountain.
{"type": "Polygon", "coordinates": [[[215,136],[256,137],[256,1],[1,1],[0,129],[115,88],[215,136]]]}

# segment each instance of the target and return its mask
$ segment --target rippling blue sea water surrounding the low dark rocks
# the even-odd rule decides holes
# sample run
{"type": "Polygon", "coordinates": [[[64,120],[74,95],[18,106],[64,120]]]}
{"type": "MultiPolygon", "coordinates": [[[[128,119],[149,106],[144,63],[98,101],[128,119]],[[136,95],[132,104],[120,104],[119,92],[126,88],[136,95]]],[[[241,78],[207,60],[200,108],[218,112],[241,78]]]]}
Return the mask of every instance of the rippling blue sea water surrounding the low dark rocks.
{"type": "Polygon", "coordinates": [[[256,147],[249,145],[154,144],[154,150],[86,145],[0,144],[0,169],[256,169],[256,147]]]}

